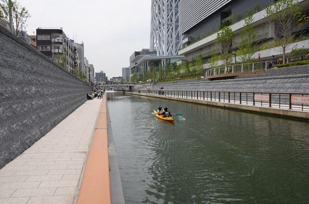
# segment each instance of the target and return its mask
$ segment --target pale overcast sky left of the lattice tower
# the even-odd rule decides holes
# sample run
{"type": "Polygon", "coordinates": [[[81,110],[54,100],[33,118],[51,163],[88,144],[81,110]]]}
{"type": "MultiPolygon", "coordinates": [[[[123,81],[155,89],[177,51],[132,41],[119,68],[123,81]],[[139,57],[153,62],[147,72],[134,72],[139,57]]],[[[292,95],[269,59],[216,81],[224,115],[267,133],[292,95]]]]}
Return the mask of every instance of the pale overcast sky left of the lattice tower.
{"type": "Polygon", "coordinates": [[[133,51],[149,48],[151,0],[17,0],[31,17],[28,34],[37,27],[62,27],[76,42],[94,71],[121,76],[133,51]]]}

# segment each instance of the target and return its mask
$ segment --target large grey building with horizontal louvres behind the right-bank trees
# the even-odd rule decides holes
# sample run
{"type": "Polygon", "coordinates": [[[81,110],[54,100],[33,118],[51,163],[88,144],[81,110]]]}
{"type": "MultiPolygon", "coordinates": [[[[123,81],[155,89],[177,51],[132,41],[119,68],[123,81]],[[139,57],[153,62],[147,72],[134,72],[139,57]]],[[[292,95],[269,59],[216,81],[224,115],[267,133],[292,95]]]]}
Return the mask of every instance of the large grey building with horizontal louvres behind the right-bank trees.
{"type": "MultiPolygon", "coordinates": [[[[183,36],[183,48],[178,51],[178,54],[184,55],[186,60],[191,60],[201,54],[203,61],[206,62],[212,54],[211,51],[218,49],[218,45],[215,43],[217,32],[225,25],[230,25],[234,32],[230,51],[235,50],[240,41],[239,32],[244,26],[243,18],[247,15],[248,9],[254,13],[252,24],[258,34],[256,41],[259,44],[257,46],[273,39],[274,33],[270,32],[271,25],[265,25],[265,16],[267,16],[265,9],[276,1],[181,0],[179,2],[179,34],[183,36]]],[[[308,0],[297,1],[300,2],[299,5],[303,12],[309,11],[308,0]]],[[[269,58],[272,54],[279,55],[280,51],[268,49],[260,51],[259,54],[259,56],[269,58]]],[[[258,53],[255,53],[253,57],[258,58],[257,55],[258,53]]],[[[268,58],[265,58],[265,60],[268,60],[268,58]]]]}

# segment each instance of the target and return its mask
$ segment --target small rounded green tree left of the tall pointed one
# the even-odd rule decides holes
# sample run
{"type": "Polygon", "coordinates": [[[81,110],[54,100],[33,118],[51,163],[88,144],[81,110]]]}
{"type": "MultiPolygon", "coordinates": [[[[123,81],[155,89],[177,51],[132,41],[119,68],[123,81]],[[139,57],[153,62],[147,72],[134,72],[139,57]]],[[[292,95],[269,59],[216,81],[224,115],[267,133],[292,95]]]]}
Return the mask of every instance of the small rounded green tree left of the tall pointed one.
{"type": "Polygon", "coordinates": [[[224,60],[224,65],[228,65],[230,54],[229,47],[232,45],[234,32],[229,26],[223,27],[216,36],[215,42],[219,45],[221,59],[224,60]]]}

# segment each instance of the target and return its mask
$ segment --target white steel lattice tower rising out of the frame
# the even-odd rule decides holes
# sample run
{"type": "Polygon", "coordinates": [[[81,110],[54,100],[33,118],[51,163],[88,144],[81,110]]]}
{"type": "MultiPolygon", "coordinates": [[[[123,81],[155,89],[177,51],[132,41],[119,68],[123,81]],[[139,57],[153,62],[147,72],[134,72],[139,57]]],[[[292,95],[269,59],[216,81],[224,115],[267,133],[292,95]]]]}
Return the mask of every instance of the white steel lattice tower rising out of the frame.
{"type": "Polygon", "coordinates": [[[178,27],[179,0],[151,0],[150,51],[158,56],[178,55],[182,38],[178,27]]]}

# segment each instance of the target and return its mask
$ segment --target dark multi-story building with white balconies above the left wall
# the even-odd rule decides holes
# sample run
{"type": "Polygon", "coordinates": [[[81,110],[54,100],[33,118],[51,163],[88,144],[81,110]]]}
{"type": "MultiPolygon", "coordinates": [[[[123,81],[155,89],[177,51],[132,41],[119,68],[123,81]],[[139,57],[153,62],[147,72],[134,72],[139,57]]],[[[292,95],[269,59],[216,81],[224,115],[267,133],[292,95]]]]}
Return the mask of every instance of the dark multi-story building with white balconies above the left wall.
{"type": "Polygon", "coordinates": [[[73,46],[61,27],[37,28],[36,46],[38,51],[52,60],[55,60],[56,54],[64,54],[65,60],[63,57],[59,57],[57,60],[63,62],[63,68],[69,72],[73,72],[73,46]]]}

